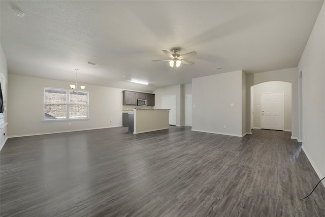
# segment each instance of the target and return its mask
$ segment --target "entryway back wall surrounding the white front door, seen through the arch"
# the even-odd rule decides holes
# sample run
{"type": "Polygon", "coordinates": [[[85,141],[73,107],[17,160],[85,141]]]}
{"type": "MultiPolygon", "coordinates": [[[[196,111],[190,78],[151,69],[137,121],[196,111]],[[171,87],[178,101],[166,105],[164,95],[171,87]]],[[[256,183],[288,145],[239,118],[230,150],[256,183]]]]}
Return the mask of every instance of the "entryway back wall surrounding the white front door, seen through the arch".
{"type": "Polygon", "coordinates": [[[269,81],[253,86],[254,92],[254,128],[261,129],[261,93],[284,92],[284,130],[291,131],[291,83],[269,81]]]}

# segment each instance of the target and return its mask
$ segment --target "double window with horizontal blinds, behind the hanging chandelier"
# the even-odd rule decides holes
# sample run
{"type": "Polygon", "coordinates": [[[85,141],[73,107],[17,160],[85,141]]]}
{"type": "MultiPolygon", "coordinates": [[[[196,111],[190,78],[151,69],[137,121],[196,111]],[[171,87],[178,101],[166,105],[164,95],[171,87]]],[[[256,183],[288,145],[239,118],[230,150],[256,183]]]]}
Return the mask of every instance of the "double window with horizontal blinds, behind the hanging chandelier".
{"type": "Polygon", "coordinates": [[[88,118],[88,92],[44,88],[44,119],[88,118]]]}

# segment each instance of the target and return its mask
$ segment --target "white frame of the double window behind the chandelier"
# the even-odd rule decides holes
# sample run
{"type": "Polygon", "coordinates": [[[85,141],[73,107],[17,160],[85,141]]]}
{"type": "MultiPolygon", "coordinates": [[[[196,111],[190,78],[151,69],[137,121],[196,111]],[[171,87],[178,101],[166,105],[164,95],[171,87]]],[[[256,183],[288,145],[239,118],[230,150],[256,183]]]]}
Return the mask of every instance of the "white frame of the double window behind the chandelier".
{"type": "Polygon", "coordinates": [[[87,104],[70,103],[70,92],[73,92],[73,90],[54,88],[54,87],[44,87],[44,89],[43,89],[43,120],[42,121],[66,121],[66,120],[87,120],[87,119],[89,119],[89,91],[85,91],[85,90],[82,91],[82,92],[86,92],[86,94],[87,94],[87,104]],[[57,103],[57,105],[66,105],[66,118],[45,119],[45,105],[55,104],[55,103],[45,103],[45,90],[46,89],[66,92],[66,103],[57,103]],[[83,105],[83,106],[86,105],[87,117],[70,117],[70,106],[71,105],[83,105]]]}

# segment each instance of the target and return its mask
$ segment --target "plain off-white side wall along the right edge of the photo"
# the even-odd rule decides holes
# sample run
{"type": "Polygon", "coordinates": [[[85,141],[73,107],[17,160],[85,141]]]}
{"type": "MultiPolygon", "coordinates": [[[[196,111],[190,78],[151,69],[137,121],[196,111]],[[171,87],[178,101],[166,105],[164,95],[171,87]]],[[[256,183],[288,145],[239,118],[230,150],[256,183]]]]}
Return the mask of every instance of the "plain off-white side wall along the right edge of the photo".
{"type": "MultiPolygon", "coordinates": [[[[302,72],[303,150],[319,178],[325,176],[325,5],[298,65],[302,72]]],[[[296,77],[297,82],[299,77],[296,77]]],[[[323,182],[323,184],[325,181],[323,182]]]]}

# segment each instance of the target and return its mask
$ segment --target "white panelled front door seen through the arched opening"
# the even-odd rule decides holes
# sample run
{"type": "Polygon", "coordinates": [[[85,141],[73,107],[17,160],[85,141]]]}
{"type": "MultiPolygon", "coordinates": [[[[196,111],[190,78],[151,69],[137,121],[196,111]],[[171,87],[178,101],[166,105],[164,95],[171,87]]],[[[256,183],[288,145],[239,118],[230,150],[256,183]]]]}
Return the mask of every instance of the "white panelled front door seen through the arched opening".
{"type": "Polygon", "coordinates": [[[269,130],[283,130],[283,92],[261,94],[262,128],[269,130]]]}

